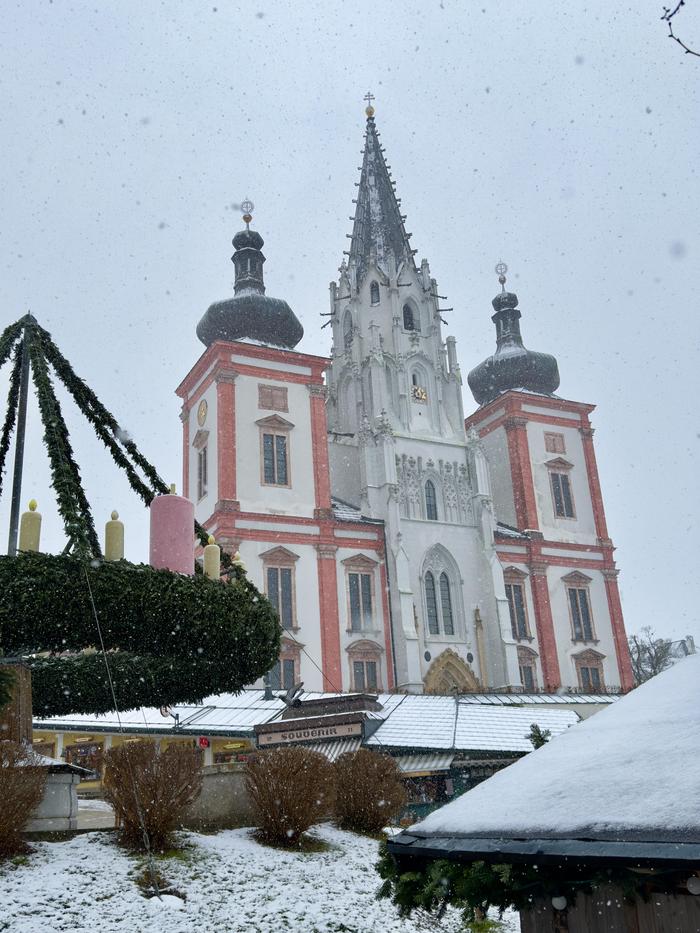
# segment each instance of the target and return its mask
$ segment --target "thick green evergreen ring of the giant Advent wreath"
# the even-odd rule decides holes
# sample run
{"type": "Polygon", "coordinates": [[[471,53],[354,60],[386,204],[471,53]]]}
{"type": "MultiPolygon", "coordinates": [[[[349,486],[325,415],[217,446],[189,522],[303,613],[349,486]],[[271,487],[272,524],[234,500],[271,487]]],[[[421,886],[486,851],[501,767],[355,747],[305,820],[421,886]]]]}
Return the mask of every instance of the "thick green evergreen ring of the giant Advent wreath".
{"type": "Polygon", "coordinates": [[[221,583],[127,561],[0,557],[0,643],[27,659],[37,715],[114,709],[91,592],[119,709],[236,692],[279,655],[277,613],[244,574],[221,583]]]}

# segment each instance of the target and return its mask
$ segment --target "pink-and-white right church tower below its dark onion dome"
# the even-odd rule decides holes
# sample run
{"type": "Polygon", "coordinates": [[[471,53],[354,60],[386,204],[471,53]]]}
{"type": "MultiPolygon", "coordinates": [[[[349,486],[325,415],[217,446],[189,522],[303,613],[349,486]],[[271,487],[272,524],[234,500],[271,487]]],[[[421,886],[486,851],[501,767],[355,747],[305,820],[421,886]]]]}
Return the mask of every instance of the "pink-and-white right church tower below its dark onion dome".
{"type": "Polygon", "coordinates": [[[593,409],[511,390],[466,420],[489,462],[496,515],[521,532],[501,526],[496,547],[523,682],[545,690],[634,685],[593,409]]]}

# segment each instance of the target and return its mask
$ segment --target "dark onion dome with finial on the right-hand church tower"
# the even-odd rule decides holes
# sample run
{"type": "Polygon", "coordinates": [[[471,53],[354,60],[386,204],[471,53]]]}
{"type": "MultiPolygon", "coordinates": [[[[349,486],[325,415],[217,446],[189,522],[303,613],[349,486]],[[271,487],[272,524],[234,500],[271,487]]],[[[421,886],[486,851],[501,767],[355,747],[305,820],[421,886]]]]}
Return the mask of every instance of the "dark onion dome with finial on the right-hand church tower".
{"type": "Polygon", "coordinates": [[[496,266],[501,283],[501,293],[492,302],[496,312],[491,318],[496,325],[496,352],[467,376],[472,395],[480,405],[509,389],[552,395],[559,388],[556,359],[549,353],[537,353],[523,346],[518,296],[506,291],[507,271],[505,263],[496,266]]]}

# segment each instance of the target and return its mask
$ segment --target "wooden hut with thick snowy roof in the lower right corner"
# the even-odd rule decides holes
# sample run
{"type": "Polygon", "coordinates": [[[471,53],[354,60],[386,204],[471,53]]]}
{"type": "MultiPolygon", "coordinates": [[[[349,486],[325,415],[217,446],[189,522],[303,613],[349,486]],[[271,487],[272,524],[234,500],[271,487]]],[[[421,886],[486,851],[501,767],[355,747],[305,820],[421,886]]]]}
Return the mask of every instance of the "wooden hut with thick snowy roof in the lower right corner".
{"type": "Polygon", "coordinates": [[[538,866],[524,933],[700,930],[699,685],[693,655],[431,813],[389,851],[414,868],[538,866]]]}

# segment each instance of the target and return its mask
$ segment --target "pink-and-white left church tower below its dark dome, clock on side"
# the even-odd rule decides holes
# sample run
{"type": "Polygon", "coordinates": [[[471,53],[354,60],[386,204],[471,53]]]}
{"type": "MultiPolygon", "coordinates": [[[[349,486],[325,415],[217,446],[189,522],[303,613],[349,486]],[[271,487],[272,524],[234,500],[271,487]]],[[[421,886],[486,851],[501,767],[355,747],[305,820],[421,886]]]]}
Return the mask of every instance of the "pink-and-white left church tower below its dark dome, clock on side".
{"type": "Polygon", "coordinates": [[[391,690],[383,529],[350,507],[334,509],[327,362],[244,342],[209,346],[177,389],[184,495],[278,607],[285,631],[275,685],[391,690]],[[283,451],[286,475],[265,475],[266,445],[283,451]]]}

